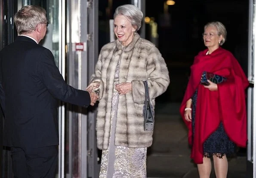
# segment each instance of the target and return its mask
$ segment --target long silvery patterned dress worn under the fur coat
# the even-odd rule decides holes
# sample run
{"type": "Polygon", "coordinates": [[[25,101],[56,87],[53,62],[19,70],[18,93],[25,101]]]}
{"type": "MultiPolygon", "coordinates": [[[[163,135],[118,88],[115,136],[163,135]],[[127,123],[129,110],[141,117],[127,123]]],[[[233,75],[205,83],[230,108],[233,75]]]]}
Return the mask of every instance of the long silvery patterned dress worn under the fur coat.
{"type": "MultiPolygon", "coordinates": [[[[114,76],[114,86],[119,83],[120,59],[114,76]]],[[[147,148],[127,148],[114,145],[119,94],[113,91],[111,129],[107,150],[102,151],[99,178],[146,178],[147,148]]]]}

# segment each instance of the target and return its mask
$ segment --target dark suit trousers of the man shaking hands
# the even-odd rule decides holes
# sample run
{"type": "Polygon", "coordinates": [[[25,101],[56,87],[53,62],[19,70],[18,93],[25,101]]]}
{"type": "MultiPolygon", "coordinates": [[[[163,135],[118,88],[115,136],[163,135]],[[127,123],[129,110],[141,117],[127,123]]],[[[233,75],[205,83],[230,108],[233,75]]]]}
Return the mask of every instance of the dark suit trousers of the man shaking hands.
{"type": "Polygon", "coordinates": [[[14,178],[55,178],[58,147],[11,147],[14,178]]]}

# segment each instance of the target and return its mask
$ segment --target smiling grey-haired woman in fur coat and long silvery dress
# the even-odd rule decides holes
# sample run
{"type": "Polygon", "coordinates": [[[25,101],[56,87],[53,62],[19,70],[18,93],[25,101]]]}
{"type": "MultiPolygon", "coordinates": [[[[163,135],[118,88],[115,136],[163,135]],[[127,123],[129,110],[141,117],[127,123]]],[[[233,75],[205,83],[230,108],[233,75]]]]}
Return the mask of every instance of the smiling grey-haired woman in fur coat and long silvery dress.
{"type": "MultiPolygon", "coordinates": [[[[89,86],[99,93],[96,131],[102,149],[99,178],[146,178],[147,147],[153,131],[144,131],[143,81],[151,104],[170,83],[167,65],[157,47],[136,33],[143,14],[136,6],[117,7],[117,40],[104,45],[89,86]]],[[[87,87],[87,88],[88,88],[87,87]]]]}

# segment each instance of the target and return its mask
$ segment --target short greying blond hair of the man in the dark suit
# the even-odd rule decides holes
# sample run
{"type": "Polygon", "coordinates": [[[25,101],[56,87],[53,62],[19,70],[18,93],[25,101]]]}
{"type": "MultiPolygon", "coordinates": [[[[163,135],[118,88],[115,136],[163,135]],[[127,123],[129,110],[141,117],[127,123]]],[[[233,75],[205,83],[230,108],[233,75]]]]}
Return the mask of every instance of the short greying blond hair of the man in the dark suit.
{"type": "Polygon", "coordinates": [[[38,24],[46,23],[46,11],[40,6],[24,6],[14,15],[14,23],[19,34],[31,33],[38,24]]]}

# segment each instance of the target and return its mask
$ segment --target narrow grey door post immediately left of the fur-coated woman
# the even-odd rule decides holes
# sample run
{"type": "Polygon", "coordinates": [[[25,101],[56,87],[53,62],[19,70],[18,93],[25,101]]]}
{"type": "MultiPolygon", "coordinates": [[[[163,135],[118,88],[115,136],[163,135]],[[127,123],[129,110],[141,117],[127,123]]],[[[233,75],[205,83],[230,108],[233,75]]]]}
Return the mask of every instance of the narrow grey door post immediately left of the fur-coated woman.
{"type": "MultiPolygon", "coordinates": [[[[96,62],[99,56],[99,0],[88,2],[88,83],[89,77],[94,73],[96,62]]],[[[88,112],[88,178],[99,177],[99,151],[96,144],[96,107],[88,112]]],[[[85,157],[84,157],[85,159],[85,157]]]]}

